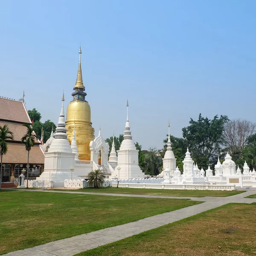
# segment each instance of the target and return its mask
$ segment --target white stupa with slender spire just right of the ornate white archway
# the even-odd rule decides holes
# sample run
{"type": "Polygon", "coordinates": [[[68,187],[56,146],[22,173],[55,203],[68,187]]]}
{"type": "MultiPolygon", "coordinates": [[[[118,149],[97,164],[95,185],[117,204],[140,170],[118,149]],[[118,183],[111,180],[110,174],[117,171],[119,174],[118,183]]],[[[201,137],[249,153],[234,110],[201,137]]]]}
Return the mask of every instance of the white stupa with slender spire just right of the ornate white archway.
{"type": "Polygon", "coordinates": [[[112,173],[112,178],[119,179],[137,179],[143,178],[144,173],[139,166],[139,151],[132,141],[130,123],[128,118],[128,100],[127,100],[127,119],[125,124],[124,140],[117,151],[117,166],[112,173]]]}

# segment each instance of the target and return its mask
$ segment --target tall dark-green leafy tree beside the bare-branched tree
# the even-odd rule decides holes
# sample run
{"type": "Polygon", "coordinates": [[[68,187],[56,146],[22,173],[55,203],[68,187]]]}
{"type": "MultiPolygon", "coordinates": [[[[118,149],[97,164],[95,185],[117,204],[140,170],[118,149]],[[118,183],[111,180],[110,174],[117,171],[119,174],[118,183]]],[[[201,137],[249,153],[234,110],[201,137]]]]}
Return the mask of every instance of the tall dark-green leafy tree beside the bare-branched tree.
{"type": "Polygon", "coordinates": [[[200,169],[201,167],[207,169],[209,164],[214,168],[217,163],[218,155],[224,145],[224,125],[228,121],[227,116],[216,115],[211,120],[204,118],[200,113],[198,121],[191,118],[190,125],[182,129],[183,138],[186,139],[189,151],[200,169]]]}

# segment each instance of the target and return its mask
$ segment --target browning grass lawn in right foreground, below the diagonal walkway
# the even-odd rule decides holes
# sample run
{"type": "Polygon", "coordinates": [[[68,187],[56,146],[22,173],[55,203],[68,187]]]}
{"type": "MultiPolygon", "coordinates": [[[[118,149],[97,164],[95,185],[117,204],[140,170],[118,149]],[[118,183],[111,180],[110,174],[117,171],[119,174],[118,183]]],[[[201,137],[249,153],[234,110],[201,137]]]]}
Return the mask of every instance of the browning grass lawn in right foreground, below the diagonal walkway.
{"type": "Polygon", "coordinates": [[[256,204],[226,204],[77,256],[256,255],[256,204]]]}

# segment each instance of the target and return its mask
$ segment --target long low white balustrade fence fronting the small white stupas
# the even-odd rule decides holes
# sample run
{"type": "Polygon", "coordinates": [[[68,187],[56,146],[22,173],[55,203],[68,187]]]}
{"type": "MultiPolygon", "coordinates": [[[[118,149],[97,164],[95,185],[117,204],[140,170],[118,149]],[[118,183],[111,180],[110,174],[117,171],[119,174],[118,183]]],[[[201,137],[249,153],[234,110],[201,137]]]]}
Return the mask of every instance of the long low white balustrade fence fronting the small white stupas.
{"type": "MultiPolygon", "coordinates": [[[[112,186],[116,187],[117,182],[113,181],[112,186]]],[[[192,189],[192,190],[235,190],[235,185],[217,185],[217,184],[134,184],[134,183],[120,183],[119,181],[119,187],[121,188],[138,188],[138,189],[192,189]]]]}

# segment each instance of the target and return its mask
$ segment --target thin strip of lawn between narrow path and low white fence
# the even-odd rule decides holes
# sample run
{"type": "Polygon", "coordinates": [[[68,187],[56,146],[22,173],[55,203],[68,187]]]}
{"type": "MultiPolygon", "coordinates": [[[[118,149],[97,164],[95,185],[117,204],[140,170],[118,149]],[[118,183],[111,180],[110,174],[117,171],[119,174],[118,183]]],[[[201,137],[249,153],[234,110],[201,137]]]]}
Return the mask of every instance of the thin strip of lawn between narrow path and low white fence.
{"type": "MultiPolygon", "coordinates": [[[[51,189],[61,191],[63,189],[51,189]]],[[[221,191],[221,190],[182,190],[182,189],[133,189],[133,188],[101,188],[101,189],[65,189],[65,191],[83,191],[95,193],[114,193],[114,194],[135,194],[135,195],[169,195],[169,196],[183,196],[183,197],[205,197],[218,196],[226,197],[230,195],[237,195],[244,191],[221,191]]]]}

